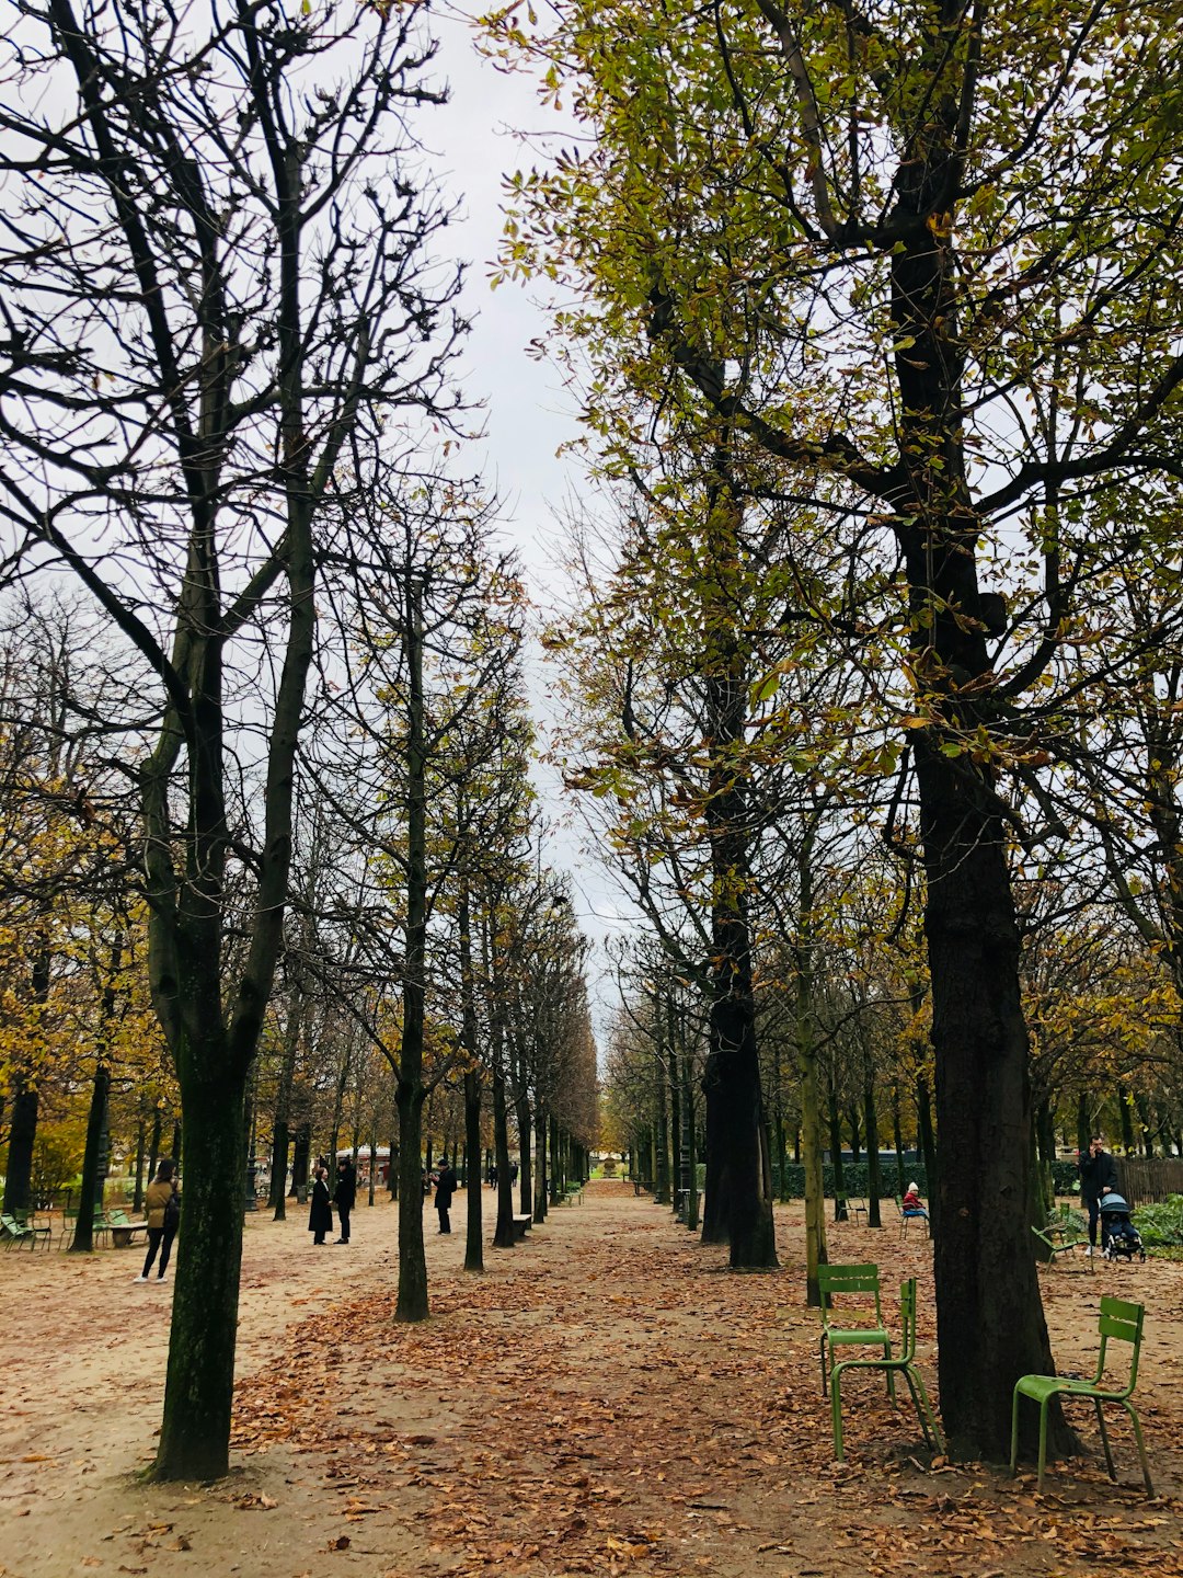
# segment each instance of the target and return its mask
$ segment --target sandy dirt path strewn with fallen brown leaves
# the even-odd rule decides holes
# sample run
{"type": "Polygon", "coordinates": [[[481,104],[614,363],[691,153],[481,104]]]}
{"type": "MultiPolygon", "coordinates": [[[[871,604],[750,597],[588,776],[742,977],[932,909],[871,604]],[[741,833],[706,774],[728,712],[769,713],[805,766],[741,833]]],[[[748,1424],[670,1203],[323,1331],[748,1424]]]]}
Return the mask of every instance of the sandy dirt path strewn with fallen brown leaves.
{"type": "MultiPolygon", "coordinates": [[[[1066,1368],[1092,1362],[1101,1292],[1145,1300],[1137,1398],[1159,1494],[1142,1496],[1117,1423],[1120,1486],[1088,1458],[1039,1498],[1032,1479],[929,1471],[915,1417],[869,1382],[850,1385],[849,1463],[833,1463],[800,1207],[778,1207],[782,1270],[737,1277],[650,1199],[593,1185],[516,1250],[487,1250],[478,1278],[459,1270],[456,1206],[461,1231],[427,1236],[421,1327],[390,1319],[390,1206],[358,1210],[349,1248],[314,1251],[303,1213],[248,1220],[235,1471],[216,1486],[134,1479],[159,1422],[169,1286],[134,1283],[131,1251],[0,1256],[3,1578],[1183,1575],[1183,1266],[1044,1273],[1066,1368]]],[[[841,1226],[831,1255],[879,1259],[886,1286],[921,1278],[932,1378],[927,1243],[841,1226]]]]}

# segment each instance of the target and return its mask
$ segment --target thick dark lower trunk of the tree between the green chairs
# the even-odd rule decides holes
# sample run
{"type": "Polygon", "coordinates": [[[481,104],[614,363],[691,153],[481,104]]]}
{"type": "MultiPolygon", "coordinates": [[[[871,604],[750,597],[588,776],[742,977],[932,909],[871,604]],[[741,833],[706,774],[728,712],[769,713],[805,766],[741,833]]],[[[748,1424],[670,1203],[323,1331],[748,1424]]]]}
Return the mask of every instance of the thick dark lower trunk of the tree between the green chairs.
{"type": "MultiPolygon", "coordinates": [[[[1011,1392],[1052,1374],[1028,1226],[1032,1108],[1002,828],[918,748],[942,1166],[929,1182],[940,1406],[956,1456],[1005,1460],[1011,1392]]],[[[1028,1430],[1033,1409],[1025,1411],[1028,1430]]],[[[1065,1441],[1062,1422],[1052,1439],[1065,1441]]]]}

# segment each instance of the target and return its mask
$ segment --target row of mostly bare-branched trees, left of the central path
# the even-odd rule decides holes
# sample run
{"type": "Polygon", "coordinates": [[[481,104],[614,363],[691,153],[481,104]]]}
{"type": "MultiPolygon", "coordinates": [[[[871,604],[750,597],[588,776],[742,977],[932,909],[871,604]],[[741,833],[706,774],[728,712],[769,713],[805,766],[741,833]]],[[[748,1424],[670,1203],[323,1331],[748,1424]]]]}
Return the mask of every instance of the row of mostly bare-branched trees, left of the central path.
{"type": "Polygon", "coordinates": [[[390,1065],[405,1318],[426,1311],[432,1087],[464,1079],[470,1155],[484,1075],[498,1149],[514,1106],[543,1160],[552,1124],[592,1138],[582,942],[530,810],[522,593],[457,473],[427,13],[22,0],[0,44],[0,568],[60,682],[25,652],[5,671],[6,1187],[27,1196],[54,1037],[95,1068],[96,1127],[117,1035],[175,1079],[161,1479],[227,1466],[227,1180],[267,1038],[278,1174],[320,1041],[390,1065]],[[66,579],[99,628],[43,614],[66,579]],[[87,969],[73,1038],[65,977],[87,969]]]}

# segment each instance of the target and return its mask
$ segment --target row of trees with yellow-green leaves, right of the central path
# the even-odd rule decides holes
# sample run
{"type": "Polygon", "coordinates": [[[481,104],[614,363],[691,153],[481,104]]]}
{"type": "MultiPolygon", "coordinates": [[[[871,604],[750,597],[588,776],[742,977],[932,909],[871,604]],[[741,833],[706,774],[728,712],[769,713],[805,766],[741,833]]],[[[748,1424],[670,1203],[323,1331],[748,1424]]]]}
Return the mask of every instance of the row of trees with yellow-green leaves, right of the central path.
{"type": "Polygon", "coordinates": [[[505,273],[558,282],[609,491],[609,565],[582,551],[595,596],[555,633],[571,781],[617,806],[631,888],[705,993],[708,1225],[773,1262],[760,969],[797,1026],[823,1253],[827,887],[916,955],[923,915],[905,999],[931,1015],[967,1456],[1005,1453],[1016,1376],[1052,1363],[1030,918],[1106,885],[1099,931],[1167,1029],[1183,985],[1178,22],[1174,0],[489,19],[584,131],[513,180],[505,273]],[[868,832],[902,876],[861,874],[868,832]]]}

